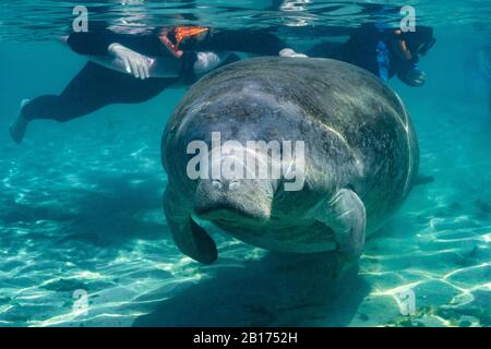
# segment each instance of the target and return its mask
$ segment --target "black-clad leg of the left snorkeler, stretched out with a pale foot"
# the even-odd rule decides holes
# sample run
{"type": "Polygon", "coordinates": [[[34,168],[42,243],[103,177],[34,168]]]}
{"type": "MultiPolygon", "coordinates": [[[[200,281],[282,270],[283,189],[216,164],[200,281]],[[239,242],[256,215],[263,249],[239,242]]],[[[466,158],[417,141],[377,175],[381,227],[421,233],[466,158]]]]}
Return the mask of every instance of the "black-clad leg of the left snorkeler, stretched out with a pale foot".
{"type": "Polygon", "coordinates": [[[11,128],[12,139],[20,143],[27,123],[37,119],[67,122],[110,104],[146,101],[176,83],[177,79],[137,80],[88,62],[60,95],[37,97],[25,104],[11,128]],[[19,124],[19,128],[14,125],[19,124]],[[23,132],[15,132],[20,130],[23,132]]]}

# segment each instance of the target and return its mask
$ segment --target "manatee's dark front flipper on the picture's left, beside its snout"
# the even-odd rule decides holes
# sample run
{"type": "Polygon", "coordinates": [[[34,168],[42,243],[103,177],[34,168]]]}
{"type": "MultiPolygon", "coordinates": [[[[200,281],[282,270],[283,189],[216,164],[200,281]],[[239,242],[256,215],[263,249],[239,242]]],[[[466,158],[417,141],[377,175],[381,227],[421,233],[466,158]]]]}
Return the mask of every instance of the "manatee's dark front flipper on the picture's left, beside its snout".
{"type": "Polygon", "coordinates": [[[217,260],[215,241],[194,222],[190,212],[184,208],[169,185],[164,194],[164,212],[172,239],[183,254],[204,264],[217,260]]]}

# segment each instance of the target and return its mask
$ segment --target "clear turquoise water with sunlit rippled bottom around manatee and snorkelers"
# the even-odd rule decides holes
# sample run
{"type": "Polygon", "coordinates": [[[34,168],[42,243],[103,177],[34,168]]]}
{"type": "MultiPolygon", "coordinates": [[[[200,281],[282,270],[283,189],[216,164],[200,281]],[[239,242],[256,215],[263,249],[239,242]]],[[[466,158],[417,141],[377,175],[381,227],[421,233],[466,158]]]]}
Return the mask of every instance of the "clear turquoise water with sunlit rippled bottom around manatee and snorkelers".
{"type": "MultiPolygon", "coordinates": [[[[414,2],[438,38],[420,63],[428,83],[391,85],[412,116],[421,172],[435,181],[416,188],[368,240],[359,267],[333,280],[325,255],[274,254],[217,231],[217,263],[179,253],[161,212],[159,142],[183,89],[69,123],[33,122],[13,144],[7,130],[19,103],[59,93],[85,62],[52,39],[73,5],[53,3],[28,11],[28,1],[0,1],[0,326],[491,325],[491,117],[475,63],[489,44],[489,5],[414,2]],[[87,292],[86,312],[74,308],[75,290],[87,292]],[[407,292],[410,316],[400,306],[407,292]]],[[[310,12],[261,3],[207,1],[192,11],[236,27],[307,17],[285,25],[292,41],[297,28],[362,20],[342,2],[334,14],[331,2],[302,4],[310,12]]],[[[189,11],[161,7],[163,15],[189,11]]]]}

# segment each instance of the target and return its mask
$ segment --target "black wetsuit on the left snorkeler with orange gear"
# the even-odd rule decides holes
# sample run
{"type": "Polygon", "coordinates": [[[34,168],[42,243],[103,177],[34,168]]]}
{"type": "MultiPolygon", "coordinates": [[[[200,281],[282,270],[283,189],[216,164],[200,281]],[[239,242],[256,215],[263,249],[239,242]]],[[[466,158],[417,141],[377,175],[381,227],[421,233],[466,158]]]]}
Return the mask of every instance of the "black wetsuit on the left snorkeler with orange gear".
{"type": "MultiPolygon", "coordinates": [[[[156,32],[130,35],[101,29],[92,33],[73,33],[68,39],[68,45],[73,51],[91,56],[107,56],[107,48],[112,43],[119,43],[144,56],[170,56],[156,32]]],[[[211,31],[202,41],[182,45],[184,57],[181,58],[181,77],[139,80],[94,62],[87,62],[60,95],[45,95],[31,100],[23,107],[22,115],[27,120],[51,119],[65,122],[110,104],[146,101],[179,81],[187,84],[194,81],[195,76],[190,71],[195,56],[193,51],[221,50],[278,55],[283,48],[285,44],[265,31],[211,31]]],[[[221,65],[238,59],[236,55],[232,55],[221,65]]]]}

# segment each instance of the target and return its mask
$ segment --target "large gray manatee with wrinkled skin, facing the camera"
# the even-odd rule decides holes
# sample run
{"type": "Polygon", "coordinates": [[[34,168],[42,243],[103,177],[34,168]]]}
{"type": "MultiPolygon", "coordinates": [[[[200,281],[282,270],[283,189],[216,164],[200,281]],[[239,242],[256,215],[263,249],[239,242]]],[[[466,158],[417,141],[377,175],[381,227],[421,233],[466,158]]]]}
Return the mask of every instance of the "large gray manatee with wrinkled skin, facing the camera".
{"type": "Polygon", "coordinates": [[[171,116],[161,152],[168,227],[178,248],[202,263],[214,262],[217,249],[193,217],[272,251],[336,250],[354,261],[366,234],[408,195],[419,161],[411,121],[391,88],[354,65],[310,58],[251,59],[209,73],[171,116]],[[190,180],[188,144],[209,144],[216,131],[221,143],[304,141],[303,189],[285,191],[282,180],[190,180]]]}

